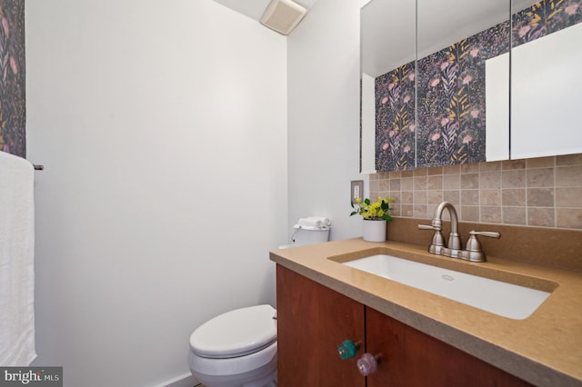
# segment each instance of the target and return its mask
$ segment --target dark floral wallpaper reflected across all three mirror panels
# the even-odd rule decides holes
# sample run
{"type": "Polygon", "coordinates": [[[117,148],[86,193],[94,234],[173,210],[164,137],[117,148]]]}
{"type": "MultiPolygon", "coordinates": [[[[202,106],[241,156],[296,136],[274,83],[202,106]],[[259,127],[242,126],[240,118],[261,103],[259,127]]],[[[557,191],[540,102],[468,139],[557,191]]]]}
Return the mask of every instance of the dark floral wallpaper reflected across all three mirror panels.
{"type": "MultiPolygon", "coordinates": [[[[544,0],[513,15],[513,45],[579,23],[580,2],[544,0]]],[[[509,29],[418,59],[416,74],[410,63],[376,78],[376,171],[486,161],[485,61],[507,52],[509,29]]]]}

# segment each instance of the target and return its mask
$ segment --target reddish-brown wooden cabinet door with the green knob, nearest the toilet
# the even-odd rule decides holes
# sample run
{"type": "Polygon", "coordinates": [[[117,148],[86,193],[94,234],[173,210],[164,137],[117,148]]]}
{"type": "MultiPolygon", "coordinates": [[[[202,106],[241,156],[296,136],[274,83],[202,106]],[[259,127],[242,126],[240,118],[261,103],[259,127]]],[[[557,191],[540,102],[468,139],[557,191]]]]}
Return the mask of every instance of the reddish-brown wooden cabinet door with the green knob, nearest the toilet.
{"type": "Polygon", "coordinates": [[[356,357],[343,361],[337,345],[364,340],[364,305],[276,267],[278,386],[365,386],[356,357]]]}

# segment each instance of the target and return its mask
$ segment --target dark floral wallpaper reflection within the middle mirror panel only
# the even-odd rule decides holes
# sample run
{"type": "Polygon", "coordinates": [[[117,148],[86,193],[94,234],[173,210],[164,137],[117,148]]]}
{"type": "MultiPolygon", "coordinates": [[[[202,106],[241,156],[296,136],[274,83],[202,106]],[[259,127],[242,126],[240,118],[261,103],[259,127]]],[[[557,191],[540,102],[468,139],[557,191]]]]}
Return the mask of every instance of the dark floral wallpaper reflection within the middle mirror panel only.
{"type": "Polygon", "coordinates": [[[417,166],[485,161],[485,61],[507,52],[509,22],[417,61],[417,166]]]}

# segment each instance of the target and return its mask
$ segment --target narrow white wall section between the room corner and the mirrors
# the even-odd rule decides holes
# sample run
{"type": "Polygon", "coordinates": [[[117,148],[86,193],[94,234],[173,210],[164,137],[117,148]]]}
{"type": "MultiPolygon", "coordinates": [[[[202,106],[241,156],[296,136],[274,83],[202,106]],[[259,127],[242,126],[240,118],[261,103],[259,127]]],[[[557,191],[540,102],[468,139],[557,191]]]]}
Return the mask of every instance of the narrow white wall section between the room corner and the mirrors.
{"type": "MultiPolygon", "coordinates": [[[[325,215],[331,239],[360,236],[350,181],[359,174],[359,10],[318,0],[287,38],[289,220],[325,215]]],[[[367,184],[365,184],[367,187],[367,184]]]]}

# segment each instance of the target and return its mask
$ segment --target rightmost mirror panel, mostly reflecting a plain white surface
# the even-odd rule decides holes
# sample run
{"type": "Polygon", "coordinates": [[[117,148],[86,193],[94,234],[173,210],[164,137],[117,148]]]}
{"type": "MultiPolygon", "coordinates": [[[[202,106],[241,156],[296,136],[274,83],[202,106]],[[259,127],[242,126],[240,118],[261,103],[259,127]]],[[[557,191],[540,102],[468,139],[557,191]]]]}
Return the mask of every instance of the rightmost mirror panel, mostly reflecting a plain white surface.
{"type": "Polygon", "coordinates": [[[511,6],[511,158],[582,153],[582,4],[511,6]]]}

